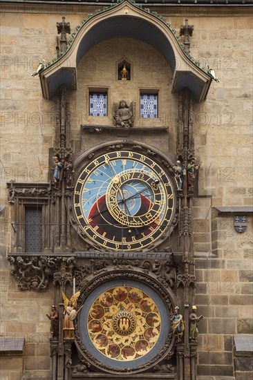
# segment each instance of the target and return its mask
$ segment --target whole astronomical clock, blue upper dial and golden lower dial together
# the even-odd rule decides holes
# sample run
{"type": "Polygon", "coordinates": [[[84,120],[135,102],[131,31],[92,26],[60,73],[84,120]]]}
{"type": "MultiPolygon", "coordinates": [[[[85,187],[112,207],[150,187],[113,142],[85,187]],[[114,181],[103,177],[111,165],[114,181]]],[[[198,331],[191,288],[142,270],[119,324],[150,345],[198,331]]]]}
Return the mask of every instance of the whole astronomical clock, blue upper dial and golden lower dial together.
{"type": "Polygon", "coordinates": [[[170,272],[167,281],[176,280],[166,246],[177,223],[171,168],[150,146],[129,142],[104,144],[77,164],[73,227],[100,265],[85,284],[75,272],[75,336],[97,370],[138,373],[171,354],[174,295],[157,279],[170,272]]]}

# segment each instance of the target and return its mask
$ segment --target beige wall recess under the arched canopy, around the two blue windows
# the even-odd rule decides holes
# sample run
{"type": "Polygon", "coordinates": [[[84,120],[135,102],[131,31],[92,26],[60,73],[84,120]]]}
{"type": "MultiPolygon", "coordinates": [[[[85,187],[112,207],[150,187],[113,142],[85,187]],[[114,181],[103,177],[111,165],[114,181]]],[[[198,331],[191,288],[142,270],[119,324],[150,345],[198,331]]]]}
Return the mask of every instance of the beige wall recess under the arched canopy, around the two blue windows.
{"type": "MultiPolygon", "coordinates": [[[[113,103],[125,99],[129,105],[135,102],[135,120],[133,126],[142,127],[135,134],[135,140],[151,144],[163,153],[175,151],[176,123],[178,118],[178,96],[171,94],[171,68],[156,48],[138,39],[113,38],[97,44],[84,55],[77,66],[78,89],[71,96],[71,105],[75,108],[72,126],[72,138],[80,151],[92,148],[104,141],[113,141],[120,135],[109,131],[103,135],[81,133],[79,124],[113,125],[113,103]],[[131,79],[118,79],[118,61],[128,59],[131,62],[131,79]],[[106,116],[93,116],[89,110],[90,93],[106,92],[106,116]],[[143,93],[157,97],[156,117],[140,116],[140,97],[143,93]],[[167,127],[165,131],[155,127],[167,127]],[[145,127],[153,127],[144,133],[145,127]],[[162,135],[162,139],[161,139],[162,135]]],[[[122,133],[121,133],[122,135],[122,133]]],[[[127,135],[125,135],[127,137],[127,135]]]]}

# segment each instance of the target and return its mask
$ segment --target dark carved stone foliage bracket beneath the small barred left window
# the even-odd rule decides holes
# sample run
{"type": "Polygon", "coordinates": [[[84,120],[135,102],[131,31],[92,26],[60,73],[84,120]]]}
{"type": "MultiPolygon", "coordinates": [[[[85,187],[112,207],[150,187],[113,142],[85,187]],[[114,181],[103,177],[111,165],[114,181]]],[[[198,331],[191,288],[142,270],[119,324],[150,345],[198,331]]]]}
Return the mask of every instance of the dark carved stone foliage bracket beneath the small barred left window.
{"type": "MultiPolygon", "coordinates": [[[[70,257],[52,257],[52,256],[9,256],[10,274],[15,276],[17,286],[20,290],[43,290],[48,288],[50,278],[56,272],[55,276],[61,281],[71,281],[71,272],[75,267],[73,258],[70,257]],[[65,272],[68,271],[68,273],[65,272]]],[[[56,280],[56,278],[55,278],[56,280]]]]}

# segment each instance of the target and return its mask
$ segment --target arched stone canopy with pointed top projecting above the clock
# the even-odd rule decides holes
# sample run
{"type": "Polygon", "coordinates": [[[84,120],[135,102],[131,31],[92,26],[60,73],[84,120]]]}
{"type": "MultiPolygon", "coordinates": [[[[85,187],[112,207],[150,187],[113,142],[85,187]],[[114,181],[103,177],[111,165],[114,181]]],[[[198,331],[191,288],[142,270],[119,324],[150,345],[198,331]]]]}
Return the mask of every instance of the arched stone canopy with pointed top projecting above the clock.
{"type": "Polygon", "coordinates": [[[62,56],[47,64],[39,75],[46,99],[52,99],[63,84],[70,90],[76,90],[79,61],[93,46],[113,37],[140,39],[155,47],[165,57],[173,73],[172,93],[188,88],[196,102],[207,97],[214,78],[185,53],[175,36],[176,30],[149,8],[142,9],[124,0],[88,15],[88,19],[83,20],[82,26],[77,26],[76,30],[62,56]]]}

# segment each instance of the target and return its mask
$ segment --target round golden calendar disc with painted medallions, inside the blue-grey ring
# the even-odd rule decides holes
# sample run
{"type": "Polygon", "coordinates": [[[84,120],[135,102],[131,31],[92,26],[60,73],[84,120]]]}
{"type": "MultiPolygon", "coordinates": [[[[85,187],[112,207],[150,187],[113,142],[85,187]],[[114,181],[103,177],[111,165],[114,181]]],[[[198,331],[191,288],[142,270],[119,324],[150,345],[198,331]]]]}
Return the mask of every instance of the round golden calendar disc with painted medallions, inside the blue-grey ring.
{"type": "Polygon", "coordinates": [[[139,359],[159,339],[160,312],[142,290],[117,286],[106,290],[88,312],[88,334],[95,348],[118,361],[139,359]]]}

